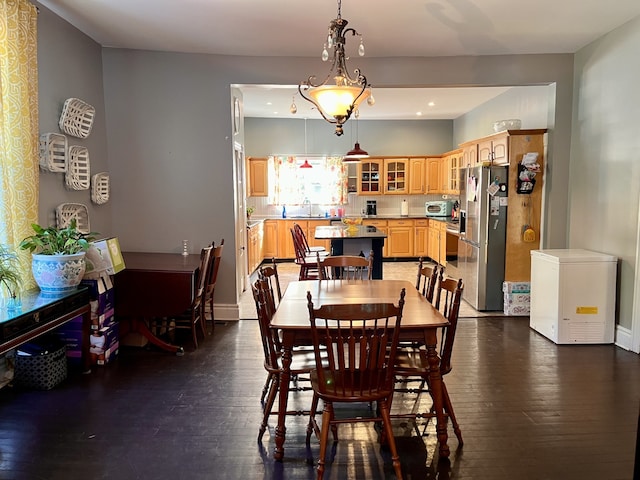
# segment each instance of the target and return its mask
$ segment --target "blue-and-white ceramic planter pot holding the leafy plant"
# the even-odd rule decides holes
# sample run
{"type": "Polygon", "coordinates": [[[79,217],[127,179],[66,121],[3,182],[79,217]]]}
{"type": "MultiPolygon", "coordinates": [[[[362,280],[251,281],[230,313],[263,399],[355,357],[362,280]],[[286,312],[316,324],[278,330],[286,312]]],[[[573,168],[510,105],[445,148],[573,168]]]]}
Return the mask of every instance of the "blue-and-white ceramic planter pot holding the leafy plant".
{"type": "Polygon", "coordinates": [[[57,295],[75,290],[84,276],[85,252],[73,255],[33,254],[33,278],[43,293],[57,295]]]}

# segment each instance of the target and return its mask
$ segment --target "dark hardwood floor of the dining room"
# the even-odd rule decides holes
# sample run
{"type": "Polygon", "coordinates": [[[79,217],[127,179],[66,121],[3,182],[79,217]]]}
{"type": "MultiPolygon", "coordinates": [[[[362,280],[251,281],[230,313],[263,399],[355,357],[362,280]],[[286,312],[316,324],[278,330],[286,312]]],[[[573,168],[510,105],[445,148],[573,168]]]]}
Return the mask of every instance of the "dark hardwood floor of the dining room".
{"type": "MultiPolygon", "coordinates": [[[[395,421],[406,479],[632,479],[640,356],[612,345],[557,346],[528,318],[459,323],[447,386],[464,447],[395,421]]],[[[263,442],[265,379],[258,324],[217,325],[176,357],[122,349],[115,363],[71,375],[50,391],[0,390],[1,479],[312,479],[318,443],[288,418],[284,462],[263,442]]],[[[292,400],[302,409],[308,397],[292,400]]],[[[412,398],[394,400],[394,410],[412,398]]],[[[371,424],[340,427],[325,478],[394,478],[371,424]]]]}

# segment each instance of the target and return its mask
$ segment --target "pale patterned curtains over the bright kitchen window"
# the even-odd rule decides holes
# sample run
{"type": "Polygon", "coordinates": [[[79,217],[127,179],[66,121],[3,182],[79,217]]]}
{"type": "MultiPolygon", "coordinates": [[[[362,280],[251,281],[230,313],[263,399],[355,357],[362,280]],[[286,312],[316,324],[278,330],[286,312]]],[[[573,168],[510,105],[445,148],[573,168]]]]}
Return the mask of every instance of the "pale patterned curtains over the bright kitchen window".
{"type": "Polygon", "coordinates": [[[347,167],[342,157],[310,159],[313,168],[300,168],[302,159],[271,156],[268,159],[269,203],[343,205],[347,199],[347,167]]]}

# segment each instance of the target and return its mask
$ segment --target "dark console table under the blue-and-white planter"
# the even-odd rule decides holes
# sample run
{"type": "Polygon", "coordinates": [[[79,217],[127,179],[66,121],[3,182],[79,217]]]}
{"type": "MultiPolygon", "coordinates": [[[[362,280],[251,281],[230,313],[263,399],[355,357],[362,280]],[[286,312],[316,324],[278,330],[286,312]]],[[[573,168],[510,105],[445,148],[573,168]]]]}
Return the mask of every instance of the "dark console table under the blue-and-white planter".
{"type": "Polygon", "coordinates": [[[73,292],[45,295],[39,289],[21,294],[22,306],[15,310],[0,309],[0,354],[19,347],[42,334],[55,330],[82,315],[82,362],[85,373],[89,363],[89,331],[91,309],[89,290],[80,286],[73,292]]]}

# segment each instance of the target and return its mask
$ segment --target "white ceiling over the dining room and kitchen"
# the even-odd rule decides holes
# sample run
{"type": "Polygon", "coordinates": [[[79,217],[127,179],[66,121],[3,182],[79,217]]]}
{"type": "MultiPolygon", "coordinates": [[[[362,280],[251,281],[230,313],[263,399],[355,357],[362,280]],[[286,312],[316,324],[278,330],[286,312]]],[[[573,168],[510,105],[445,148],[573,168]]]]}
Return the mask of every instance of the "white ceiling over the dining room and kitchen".
{"type": "MultiPolygon", "coordinates": [[[[40,0],[105,47],[319,57],[333,0],[40,0]]],[[[368,57],[575,53],[640,15],[638,0],[344,0],[368,57]]],[[[347,37],[347,49],[356,40],[347,37]],[[351,42],[350,42],[351,40],[351,42]]],[[[353,44],[353,45],[351,45],[353,44]]],[[[348,54],[350,52],[347,52],[348,54]]],[[[328,67],[327,67],[328,70],[328,67]]],[[[370,79],[371,80],[371,79],[370,79]]],[[[504,91],[374,89],[361,119],[456,118],[504,91]],[[427,103],[434,101],[435,106],[427,103]]],[[[292,118],[297,90],[244,88],[245,116],[292,118]],[[267,105],[267,102],[272,105],[267,105]],[[282,105],[286,105],[283,107],[282,105]],[[278,114],[274,114],[278,111],[278,114]]],[[[298,118],[318,116],[296,96],[298,118]]]]}

